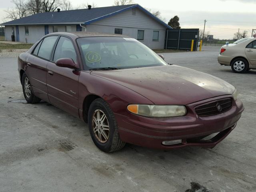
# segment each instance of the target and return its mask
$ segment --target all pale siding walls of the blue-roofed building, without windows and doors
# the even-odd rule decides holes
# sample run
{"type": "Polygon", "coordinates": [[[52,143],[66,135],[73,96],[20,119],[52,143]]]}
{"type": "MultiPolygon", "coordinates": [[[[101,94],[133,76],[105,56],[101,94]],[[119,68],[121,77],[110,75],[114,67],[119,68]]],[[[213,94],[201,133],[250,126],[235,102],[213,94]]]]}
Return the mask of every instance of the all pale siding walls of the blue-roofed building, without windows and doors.
{"type": "MultiPolygon", "coordinates": [[[[71,26],[72,32],[76,31],[76,25],[71,26]]],[[[164,48],[164,36],[166,27],[136,8],[136,15],[132,15],[132,10],[127,10],[110,16],[108,18],[98,20],[86,26],[88,32],[105,32],[113,33],[115,28],[122,28],[123,35],[137,38],[138,30],[144,30],[144,40],[141,42],[151,49],[164,48]],[[153,31],[159,31],[159,40],[153,41],[153,31]]],[[[29,35],[25,35],[25,26],[19,26],[20,42],[35,43],[44,36],[44,25],[28,26],[29,35]]],[[[58,32],[65,32],[66,25],[58,25],[58,32]]],[[[82,28],[82,31],[85,31],[82,28]]],[[[16,26],[14,26],[15,40],[16,26]]],[[[49,25],[49,33],[53,32],[53,25],[49,25]]],[[[12,26],[6,26],[6,40],[10,41],[12,35],[12,26]]]]}

